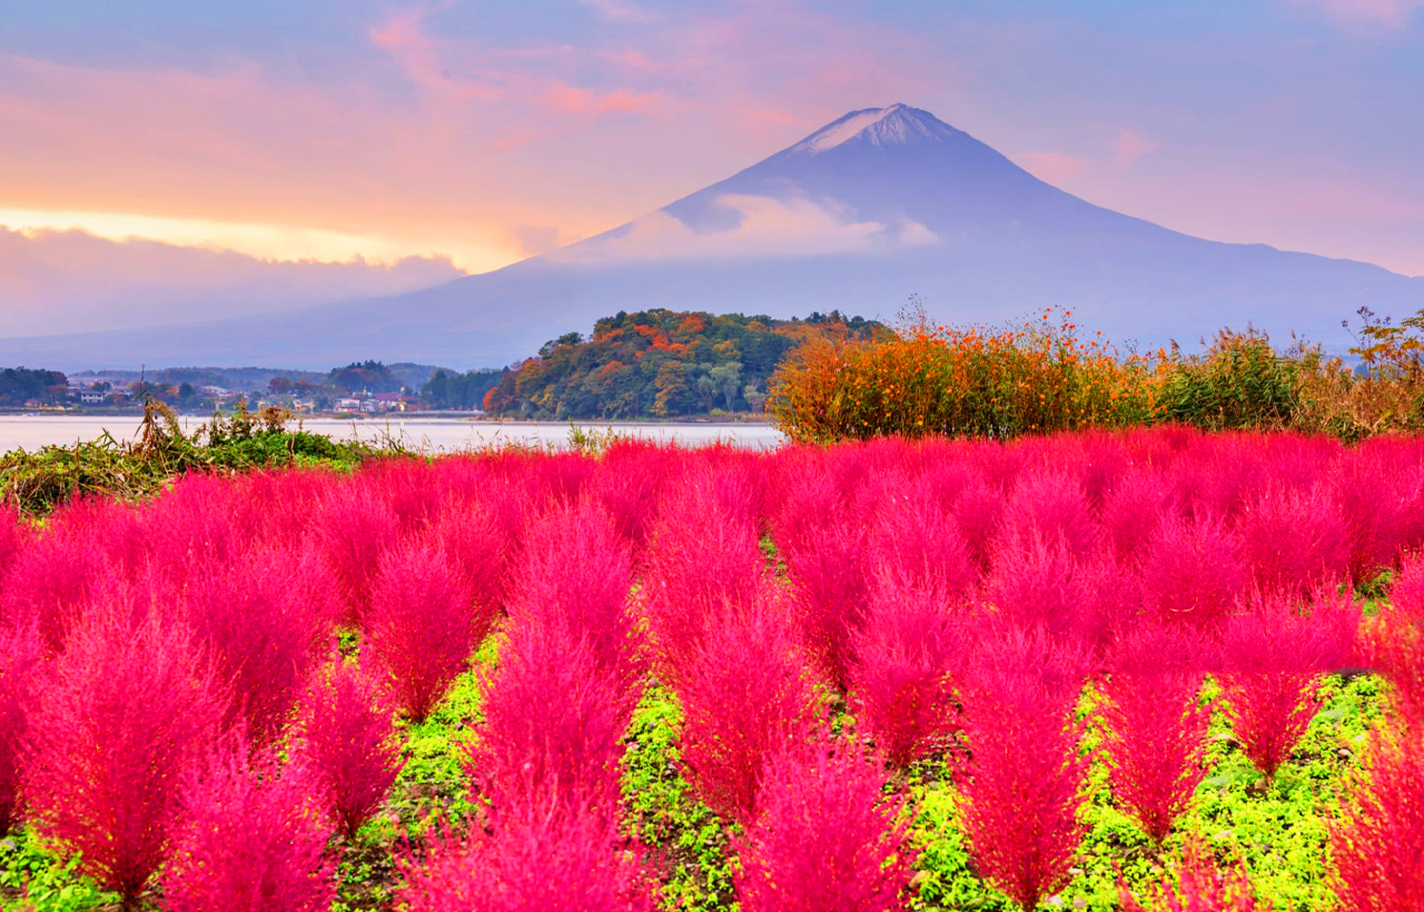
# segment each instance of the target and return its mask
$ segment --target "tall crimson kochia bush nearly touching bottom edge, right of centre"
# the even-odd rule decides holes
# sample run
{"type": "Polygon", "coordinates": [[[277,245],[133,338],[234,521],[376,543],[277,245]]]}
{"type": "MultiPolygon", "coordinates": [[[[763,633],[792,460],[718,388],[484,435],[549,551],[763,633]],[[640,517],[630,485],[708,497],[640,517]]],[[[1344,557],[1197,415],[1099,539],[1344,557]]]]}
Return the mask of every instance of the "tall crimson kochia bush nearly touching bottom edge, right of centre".
{"type": "Polygon", "coordinates": [[[964,835],[978,872],[1025,911],[1067,882],[1087,832],[1089,757],[1072,717],[1087,669],[1085,654],[1020,627],[987,632],[967,664],[964,835]]]}

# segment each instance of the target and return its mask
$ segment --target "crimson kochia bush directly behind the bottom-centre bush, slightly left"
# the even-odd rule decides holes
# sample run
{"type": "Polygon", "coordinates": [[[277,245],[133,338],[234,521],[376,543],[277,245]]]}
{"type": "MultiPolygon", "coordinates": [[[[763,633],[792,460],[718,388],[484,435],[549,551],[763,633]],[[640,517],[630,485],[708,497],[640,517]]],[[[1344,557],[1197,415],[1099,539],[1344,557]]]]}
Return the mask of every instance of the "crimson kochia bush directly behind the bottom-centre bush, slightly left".
{"type": "Polygon", "coordinates": [[[823,719],[800,642],[775,608],[712,627],[684,677],[682,761],[698,797],[750,820],[766,758],[805,747],[823,719]]]}

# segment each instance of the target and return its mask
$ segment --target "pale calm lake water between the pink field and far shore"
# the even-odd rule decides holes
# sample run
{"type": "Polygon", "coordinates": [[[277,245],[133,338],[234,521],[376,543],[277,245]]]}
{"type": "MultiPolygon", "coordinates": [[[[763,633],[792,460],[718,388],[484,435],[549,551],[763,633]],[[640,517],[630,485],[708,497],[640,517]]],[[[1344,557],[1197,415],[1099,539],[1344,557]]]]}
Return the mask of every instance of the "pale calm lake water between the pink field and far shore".
{"type": "MultiPolygon", "coordinates": [[[[185,430],[194,430],[206,418],[182,418],[185,430]]],[[[567,424],[468,421],[460,418],[375,418],[349,421],[337,418],[309,418],[302,423],[308,431],[329,434],[337,440],[359,438],[376,441],[387,434],[410,447],[431,451],[466,450],[503,441],[531,444],[568,442],[567,424]]],[[[632,434],[658,441],[686,445],[709,444],[719,440],[740,447],[775,447],[782,442],[780,431],[766,424],[598,424],[584,425],[602,431],[612,427],[621,434],[632,434]]],[[[73,444],[95,440],[104,431],[115,440],[132,440],[138,434],[138,417],[80,417],[80,415],[0,415],[0,452],[10,450],[38,450],[46,444],[73,444]]]]}

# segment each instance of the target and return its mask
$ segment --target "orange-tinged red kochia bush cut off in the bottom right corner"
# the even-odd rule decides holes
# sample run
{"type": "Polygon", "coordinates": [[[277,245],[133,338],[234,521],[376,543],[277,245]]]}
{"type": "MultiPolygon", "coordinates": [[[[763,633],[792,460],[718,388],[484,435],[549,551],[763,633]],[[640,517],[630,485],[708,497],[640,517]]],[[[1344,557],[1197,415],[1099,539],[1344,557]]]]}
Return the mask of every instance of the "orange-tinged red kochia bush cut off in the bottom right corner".
{"type": "Polygon", "coordinates": [[[1331,888],[1340,912],[1424,909],[1424,751],[1417,734],[1380,728],[1366,777],[1330,827],[1331,888]]]}

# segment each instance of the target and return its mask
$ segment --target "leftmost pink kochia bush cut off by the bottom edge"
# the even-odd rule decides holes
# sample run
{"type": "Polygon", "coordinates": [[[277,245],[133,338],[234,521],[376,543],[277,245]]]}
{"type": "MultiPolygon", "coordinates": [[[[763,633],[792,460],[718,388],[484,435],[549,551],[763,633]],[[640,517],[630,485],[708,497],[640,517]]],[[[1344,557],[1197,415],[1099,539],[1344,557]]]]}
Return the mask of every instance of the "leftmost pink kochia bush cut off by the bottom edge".
{"type": "Polygon", "coordinates": [[[222,751],[189,777],[184,822],[164,871],[171,912],[325,912],[336,896],[328,828],[300,767],[282,770],[246,744],[222,751]]]}

